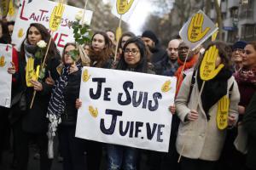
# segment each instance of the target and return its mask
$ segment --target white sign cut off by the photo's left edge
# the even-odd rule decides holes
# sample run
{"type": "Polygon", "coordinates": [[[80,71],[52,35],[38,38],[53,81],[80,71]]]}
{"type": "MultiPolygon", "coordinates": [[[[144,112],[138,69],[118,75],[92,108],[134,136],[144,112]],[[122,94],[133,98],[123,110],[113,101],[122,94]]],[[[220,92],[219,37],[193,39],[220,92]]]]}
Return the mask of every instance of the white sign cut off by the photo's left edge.
{"type": "Polygon", "coordinates": [[[11,66],[12,46],[0,43],[0,105],[10,107],[12,75],[7,70],[11,66]]]}

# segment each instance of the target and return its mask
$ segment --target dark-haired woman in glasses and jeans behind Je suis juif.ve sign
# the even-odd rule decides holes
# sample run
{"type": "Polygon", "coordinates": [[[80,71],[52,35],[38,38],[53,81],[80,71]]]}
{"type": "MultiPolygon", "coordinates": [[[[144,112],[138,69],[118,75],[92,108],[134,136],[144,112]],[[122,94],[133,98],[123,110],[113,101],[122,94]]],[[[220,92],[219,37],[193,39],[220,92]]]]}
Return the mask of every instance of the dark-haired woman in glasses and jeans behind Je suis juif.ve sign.
{"type": "MultiPolygon", "coordinates": [[[[148,69],[146,48],[138,37],[128,39],[123,47],[117,70],[154,73],[148,69]]],[[[107,144],[108,170],[136,170],[139,150],[117,144],[107,144]]]]}

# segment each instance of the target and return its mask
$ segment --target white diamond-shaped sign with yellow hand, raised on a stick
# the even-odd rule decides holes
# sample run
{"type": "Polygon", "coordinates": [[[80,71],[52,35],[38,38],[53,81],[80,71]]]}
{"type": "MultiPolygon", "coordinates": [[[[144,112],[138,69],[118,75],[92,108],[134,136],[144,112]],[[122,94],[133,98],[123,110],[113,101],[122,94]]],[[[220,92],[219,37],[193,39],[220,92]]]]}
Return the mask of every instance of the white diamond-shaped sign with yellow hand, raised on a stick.
{"type": "Polygon", "coordinates": [[[208,37],[218,30],[218,27],[207,17],[204,12],[199,10],[189,18],[182,29],[179,31],[183,42],[193,50],[207,40],[208,37]]]}

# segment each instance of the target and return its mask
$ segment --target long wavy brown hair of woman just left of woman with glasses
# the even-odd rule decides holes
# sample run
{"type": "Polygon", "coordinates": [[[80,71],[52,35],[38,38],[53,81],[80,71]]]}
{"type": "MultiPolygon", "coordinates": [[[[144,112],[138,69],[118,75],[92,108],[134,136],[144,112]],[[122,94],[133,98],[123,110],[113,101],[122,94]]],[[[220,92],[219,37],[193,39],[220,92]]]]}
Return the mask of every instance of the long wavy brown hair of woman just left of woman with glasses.
{"type": "Polygon", "coordinates": [[[108,38],[107,33],[104,31],[96,31],[91,37],[91,42],[90,42],[90,49],[89,49],[90,65],[93,65],[95,61],[96,61],[96,65],[95,65],[96,67],[102,67],[103,65],[105,65],[108,62],[108,59],[111,59],[111,57],[113,57],[112,47],[113,47],[112,42],[108,38]],[[100,52],[96,52],[92,48],[92,40],[97,34],[102,35],[102,37],[104,37],[105,46],[106,46],[100,52]]]}

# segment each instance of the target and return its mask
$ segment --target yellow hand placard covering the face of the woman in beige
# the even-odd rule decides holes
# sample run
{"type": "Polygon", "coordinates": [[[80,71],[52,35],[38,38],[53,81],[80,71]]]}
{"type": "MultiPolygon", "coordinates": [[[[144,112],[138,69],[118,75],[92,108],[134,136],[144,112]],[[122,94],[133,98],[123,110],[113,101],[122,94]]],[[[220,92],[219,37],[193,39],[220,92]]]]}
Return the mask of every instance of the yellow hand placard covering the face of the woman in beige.
{"type": "Polygon", "coordinates": [[[211,80],[216,77],[218,72],[224,67],[223,64],[215,68],[215,62],[218,57],[218,48],[216,46],[210,47],[204,55],[200,66],[200,77],[203,81],[211,80]]]}

